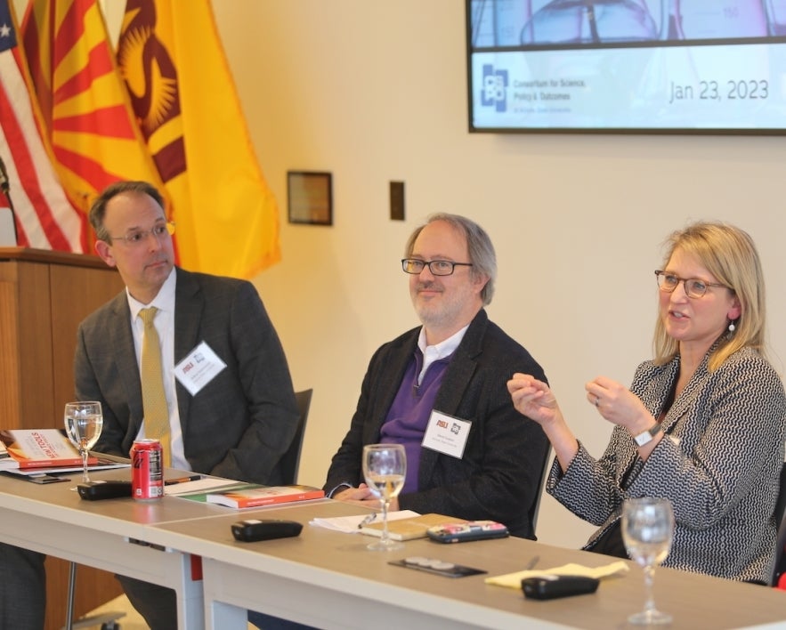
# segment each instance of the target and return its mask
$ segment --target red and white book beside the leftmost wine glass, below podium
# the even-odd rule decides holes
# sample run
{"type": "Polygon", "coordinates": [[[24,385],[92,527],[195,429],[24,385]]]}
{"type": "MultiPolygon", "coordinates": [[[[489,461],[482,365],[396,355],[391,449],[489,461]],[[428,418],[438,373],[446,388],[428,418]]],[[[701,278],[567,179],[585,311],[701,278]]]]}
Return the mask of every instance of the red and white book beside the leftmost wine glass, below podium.
{"type": "MultiPolygon", "coordinates": [[[[57,429],[8,429],[0,431],[0,442],[9,455],[0,457],[0,470],[82,465],[77,448],[57,429]]],[[[87,463],[98,460],[91,456],[87,463]]]]}

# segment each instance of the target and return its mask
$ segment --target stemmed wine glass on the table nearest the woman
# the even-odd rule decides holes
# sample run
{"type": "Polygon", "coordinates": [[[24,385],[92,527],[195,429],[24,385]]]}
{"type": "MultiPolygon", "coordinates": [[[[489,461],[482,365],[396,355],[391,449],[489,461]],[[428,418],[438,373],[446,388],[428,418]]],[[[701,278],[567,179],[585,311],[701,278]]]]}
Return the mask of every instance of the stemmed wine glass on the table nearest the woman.
{"type": "Polygon", "coordinates": [[[671,615],[655,608],[652,583],[655,567],[666,560],[674,533],[674,512],[668,499],[627,499],[622,506],[622,540],[632,560],[644,568],[644,610],[628,617],[631,624],[671,623],[671,615]]]}

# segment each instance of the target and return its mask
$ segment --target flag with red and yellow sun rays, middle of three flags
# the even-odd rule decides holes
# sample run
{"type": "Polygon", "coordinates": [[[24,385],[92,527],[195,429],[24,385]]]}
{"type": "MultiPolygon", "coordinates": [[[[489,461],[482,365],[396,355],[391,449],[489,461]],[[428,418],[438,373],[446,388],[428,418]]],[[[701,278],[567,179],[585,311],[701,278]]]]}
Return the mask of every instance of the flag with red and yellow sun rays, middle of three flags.
{"type": "Polygon", "coordinates": [[[43,133],[72,203],[86,212],[117,180],[144,180],[164,192],[97,1],[33,0],[21,30],[43,133]]]}

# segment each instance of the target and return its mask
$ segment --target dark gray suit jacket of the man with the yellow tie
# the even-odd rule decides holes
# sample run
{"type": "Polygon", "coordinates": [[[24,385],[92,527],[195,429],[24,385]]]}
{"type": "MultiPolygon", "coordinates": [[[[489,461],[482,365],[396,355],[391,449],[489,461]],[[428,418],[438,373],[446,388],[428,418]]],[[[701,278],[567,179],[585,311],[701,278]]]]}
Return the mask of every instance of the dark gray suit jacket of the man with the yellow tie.
{"type": "MultiPolygon", "coordinates": [[[[280,483],[278,462],[298,418],[279,337],[255,287],[176,270],[174,361],[200,342],[227,367],[191,396],[176,383],[185,456],[196,472],[280,483]]],[[[77,331],[77,400],[99,400],[104,425],[96,450],[128,456],[142,424],[142,385],[126,291],[77,331]]]]}

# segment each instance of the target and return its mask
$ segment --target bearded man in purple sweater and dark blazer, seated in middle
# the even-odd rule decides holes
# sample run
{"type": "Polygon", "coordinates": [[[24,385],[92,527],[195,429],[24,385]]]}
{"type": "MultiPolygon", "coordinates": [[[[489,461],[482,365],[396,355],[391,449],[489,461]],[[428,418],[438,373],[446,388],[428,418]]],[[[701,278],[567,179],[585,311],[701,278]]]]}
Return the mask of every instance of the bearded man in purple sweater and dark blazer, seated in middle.
{"type": "Polygon", "coordinates": [[[374,354],[325,489],[339,500],[378,505],[363,483],[363,446],[398,442],[408,472],[391,509],[499,521],[515,536],[534,538],[548,444],[538,424],[516,417],[506,382],[524,366],[545,376],[483,309],[497,275],[490,238],[465,217],[435,214],[405,251],[402,266],[423,326],[374,354]],[[457,436],[450,448],[429,439],[446,418],[457,436]]]}

